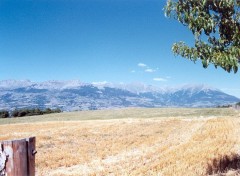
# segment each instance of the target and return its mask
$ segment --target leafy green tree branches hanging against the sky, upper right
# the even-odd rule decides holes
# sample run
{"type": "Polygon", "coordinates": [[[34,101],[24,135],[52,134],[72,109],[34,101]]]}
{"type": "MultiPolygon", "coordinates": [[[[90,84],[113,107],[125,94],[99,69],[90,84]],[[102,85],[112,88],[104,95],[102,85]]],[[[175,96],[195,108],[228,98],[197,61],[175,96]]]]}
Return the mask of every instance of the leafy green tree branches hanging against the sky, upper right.
{"type": "Polygon", "coordinates": [[[240,0],[168,0],[165,15],[188,27],[195,45],[174,43],[172,50],[191,61],[202,61],[236,73],[240,63],[240,0]]]}

